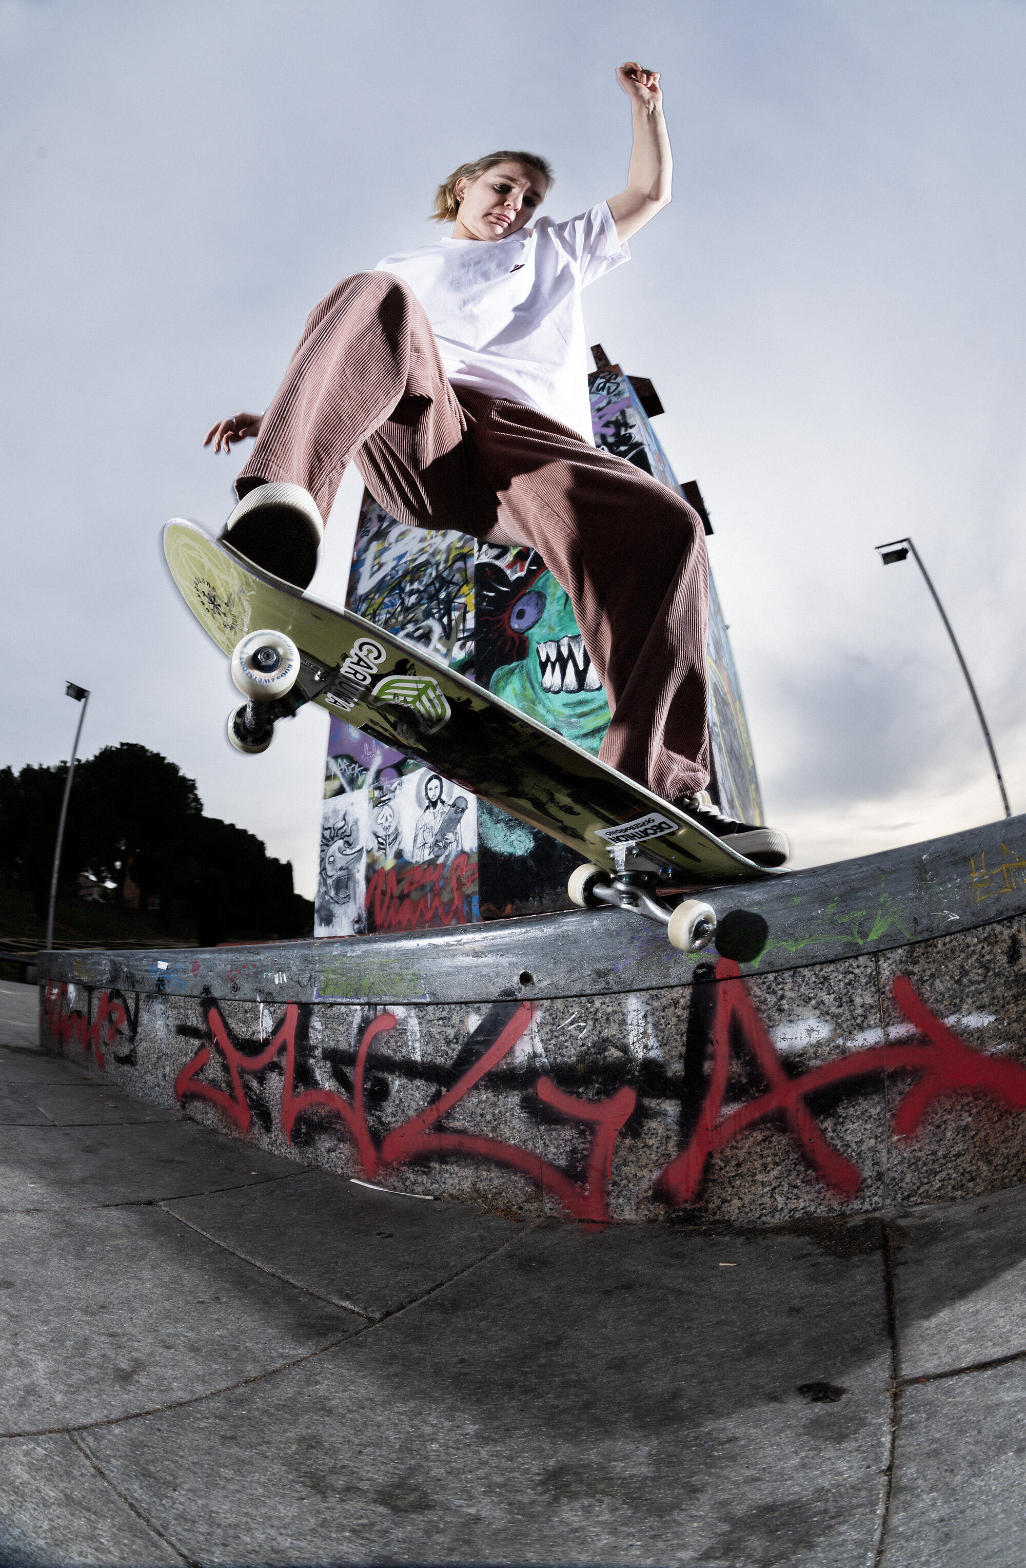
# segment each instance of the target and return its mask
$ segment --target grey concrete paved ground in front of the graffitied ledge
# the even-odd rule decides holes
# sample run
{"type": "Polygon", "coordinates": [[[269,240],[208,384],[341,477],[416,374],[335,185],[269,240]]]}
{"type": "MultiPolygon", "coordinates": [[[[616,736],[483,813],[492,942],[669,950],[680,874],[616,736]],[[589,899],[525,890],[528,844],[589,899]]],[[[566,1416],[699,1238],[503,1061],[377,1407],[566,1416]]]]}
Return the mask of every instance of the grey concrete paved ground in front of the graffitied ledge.
{"type": "Polygon", "coordinates": [[[777,1229],[382,1193],[0,983],[0,1563],[1026,1555],[1026,1190],[777,1229]]]}

